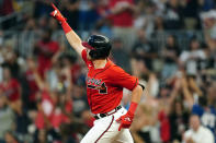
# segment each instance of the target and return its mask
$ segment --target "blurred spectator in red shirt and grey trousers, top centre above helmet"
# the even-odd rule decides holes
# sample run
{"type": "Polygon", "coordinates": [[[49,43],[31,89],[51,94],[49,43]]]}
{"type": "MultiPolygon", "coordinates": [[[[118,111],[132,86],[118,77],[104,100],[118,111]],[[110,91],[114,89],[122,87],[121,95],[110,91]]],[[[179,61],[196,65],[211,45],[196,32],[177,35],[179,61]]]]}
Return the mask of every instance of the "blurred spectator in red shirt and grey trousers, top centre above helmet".
{"type": "Polygon", "coordinates": [[[134,0],[109,0],[111,23],[113,25],[113,34],[121,38],[125,50],[130,51],[135,41],[134,15],[138,8],[134,0]]]}

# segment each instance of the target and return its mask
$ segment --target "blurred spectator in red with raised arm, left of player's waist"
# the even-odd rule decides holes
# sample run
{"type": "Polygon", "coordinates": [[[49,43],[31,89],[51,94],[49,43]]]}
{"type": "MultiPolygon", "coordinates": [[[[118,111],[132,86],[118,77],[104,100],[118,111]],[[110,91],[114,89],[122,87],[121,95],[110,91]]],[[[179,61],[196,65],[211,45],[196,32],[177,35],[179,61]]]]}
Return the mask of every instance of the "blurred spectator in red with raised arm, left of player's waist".
{"type": "Polygon", "coordinates": [[[50,91],[49,84],[38,74],[35,64],[32,63],[31,67],[36,86],[39,91],[36,95],[38,112],[35,119],[35,126],[37,129],[49,127],[58,130],[61,123],[69,122],[67,115],[72,110],[71,99],[65,94],[59,94],[58,91],[50,91]]]}

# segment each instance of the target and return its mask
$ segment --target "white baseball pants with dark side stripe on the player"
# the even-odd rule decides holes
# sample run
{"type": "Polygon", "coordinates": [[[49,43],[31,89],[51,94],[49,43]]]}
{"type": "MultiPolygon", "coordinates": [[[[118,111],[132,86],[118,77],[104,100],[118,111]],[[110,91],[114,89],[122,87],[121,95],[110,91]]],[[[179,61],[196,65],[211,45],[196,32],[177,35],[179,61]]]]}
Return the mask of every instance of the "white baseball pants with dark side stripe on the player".
{"type": "Polygon", "coordinates": [[[113,115],[95,120],[81,143],[134,143],[129,130],[122,128],[118,131],[120,123],[115,121],[126,112],[123,107],[113,115]]]}

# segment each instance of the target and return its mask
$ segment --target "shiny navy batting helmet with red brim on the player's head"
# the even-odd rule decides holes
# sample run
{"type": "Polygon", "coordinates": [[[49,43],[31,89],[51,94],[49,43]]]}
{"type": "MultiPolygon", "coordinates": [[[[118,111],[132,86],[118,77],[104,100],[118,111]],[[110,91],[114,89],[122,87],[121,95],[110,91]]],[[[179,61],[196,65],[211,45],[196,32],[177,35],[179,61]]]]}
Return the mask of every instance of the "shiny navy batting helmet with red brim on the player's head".
{"type": "Polygon", "coordinates": [[[90,36],[87,43],[82,43],[82,46],[91,49],[89,55],[92,59],[107,58],[112,47],[110,39],[103,35],[90,36]]]}

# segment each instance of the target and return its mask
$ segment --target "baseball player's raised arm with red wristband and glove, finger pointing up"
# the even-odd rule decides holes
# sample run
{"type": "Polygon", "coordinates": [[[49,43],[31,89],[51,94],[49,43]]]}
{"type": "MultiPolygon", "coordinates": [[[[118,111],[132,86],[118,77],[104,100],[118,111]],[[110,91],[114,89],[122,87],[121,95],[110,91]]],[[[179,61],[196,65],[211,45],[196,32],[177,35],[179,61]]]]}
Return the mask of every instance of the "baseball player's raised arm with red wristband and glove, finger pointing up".
{"type": "Polygon", "coordinates": [[[54,3],[52,3],[52,7],[54,8],[54,11],[50,13],[50,15],[61,24],[70,46],[81,56],[81,51],[84,49],[84,47],[82,46],[82,40],[68,25],[66,19],[62,16],[60,11],[54,5],[54,3]]]}

